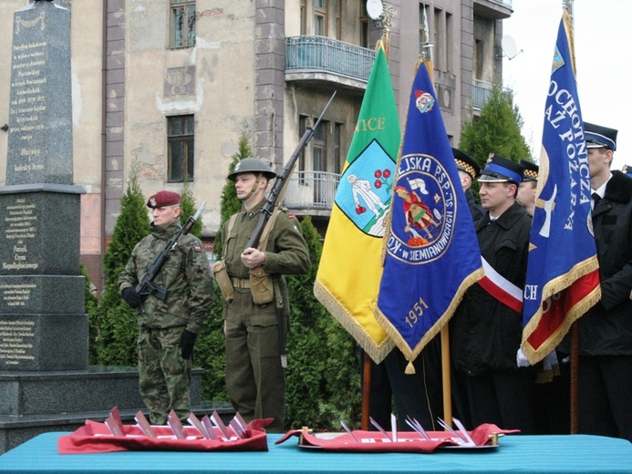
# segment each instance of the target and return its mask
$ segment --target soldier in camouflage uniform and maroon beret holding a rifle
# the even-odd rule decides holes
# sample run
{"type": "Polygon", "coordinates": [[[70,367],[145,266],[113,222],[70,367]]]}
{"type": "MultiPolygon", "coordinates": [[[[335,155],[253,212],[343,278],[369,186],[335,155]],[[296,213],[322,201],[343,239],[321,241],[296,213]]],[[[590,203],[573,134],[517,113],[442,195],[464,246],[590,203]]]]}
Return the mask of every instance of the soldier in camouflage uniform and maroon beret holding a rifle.
{"type": "Polygon", "coordinates": [[[119,276],[123,299],[141,308],[138,320],[140,395],[153,425],[165,425],[173,409],[182,421],[191,412],[191,371],[195,339],[212,304],[212,276],[202,242],[181,235],[154,283],[164,288],[164,301],[154,295],[144,301],[135,288],[156,255],[180,232],[180,195],[160,191],[150,197],[150,235],[136,244],[119,276]]]}

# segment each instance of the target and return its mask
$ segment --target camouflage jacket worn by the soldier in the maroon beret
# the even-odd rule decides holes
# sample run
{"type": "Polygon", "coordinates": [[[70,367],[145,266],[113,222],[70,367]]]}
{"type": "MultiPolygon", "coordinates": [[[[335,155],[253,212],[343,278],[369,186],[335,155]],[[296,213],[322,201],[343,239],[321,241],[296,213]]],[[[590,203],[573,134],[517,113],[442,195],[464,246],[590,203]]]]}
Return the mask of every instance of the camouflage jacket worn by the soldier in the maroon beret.
{"type": "MultiPolygon", "coordinates": [[[[151,224],[151,234],[136,244],[119,275],[119,291],[135,287],[142,280],[156,255],[180,228],[178,221],[167,226],[151,224]]],[[[153,295],[147,296],[139,325],[152,328],[186,325],[192,333],[200,333],[212,304],[211,267],[202,242],[191,234],[182,235],[154,283],[167,290],[167,298],[161,301],[153,295]]]]}

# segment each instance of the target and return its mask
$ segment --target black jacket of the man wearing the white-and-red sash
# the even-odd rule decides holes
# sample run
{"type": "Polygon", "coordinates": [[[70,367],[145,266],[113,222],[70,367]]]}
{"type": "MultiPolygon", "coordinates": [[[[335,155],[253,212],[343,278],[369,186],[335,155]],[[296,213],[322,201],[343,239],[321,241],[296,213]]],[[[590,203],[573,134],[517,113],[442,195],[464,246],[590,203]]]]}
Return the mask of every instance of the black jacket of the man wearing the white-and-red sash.
{"type": "MultiPolygon", "coordinates": [[[[523,288],[531,217],[517,202],[496,221],[489,212],[474,222],[481,254],[496,272],[523,288]]],[[[517,369],[523,335],[522,314],[475,283],[451,321],[451,352],[456,368],[471,376],[489,370],[517,369]]]]}

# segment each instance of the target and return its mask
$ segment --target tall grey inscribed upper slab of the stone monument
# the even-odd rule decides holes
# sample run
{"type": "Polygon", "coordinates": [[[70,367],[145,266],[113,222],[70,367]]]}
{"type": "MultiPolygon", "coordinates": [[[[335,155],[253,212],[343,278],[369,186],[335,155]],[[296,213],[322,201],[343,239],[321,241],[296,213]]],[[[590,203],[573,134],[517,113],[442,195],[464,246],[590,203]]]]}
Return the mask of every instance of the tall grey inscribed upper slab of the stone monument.
{"type": "Polygon", "coordinates": [[[13,25],[6,184],[72,184],[70,14],[35,2],[13,25]]]}

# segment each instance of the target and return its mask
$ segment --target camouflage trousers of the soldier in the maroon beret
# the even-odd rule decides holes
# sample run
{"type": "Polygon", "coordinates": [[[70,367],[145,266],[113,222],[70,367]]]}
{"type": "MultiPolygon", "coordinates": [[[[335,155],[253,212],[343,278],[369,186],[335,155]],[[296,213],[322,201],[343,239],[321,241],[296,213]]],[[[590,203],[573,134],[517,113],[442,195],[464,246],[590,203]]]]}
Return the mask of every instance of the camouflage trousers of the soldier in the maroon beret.
{"type": "Polygon", "coordinates": [[[171,409],[183,422],[191,413],[192,361],[181,356],[183,329],[140,327],[140,397],[150,410],[152,425],[166,425],[171,409]]]}

